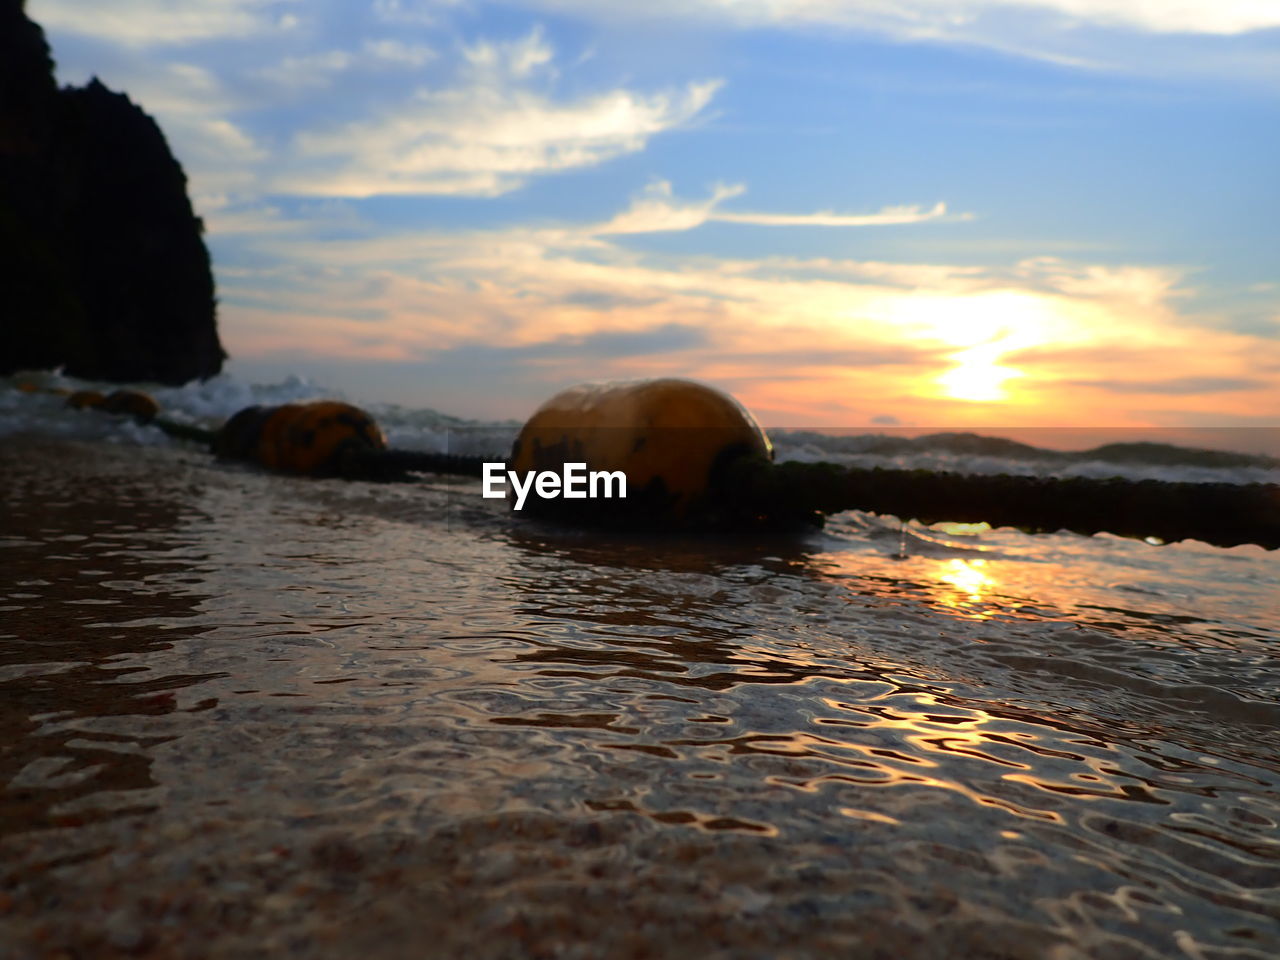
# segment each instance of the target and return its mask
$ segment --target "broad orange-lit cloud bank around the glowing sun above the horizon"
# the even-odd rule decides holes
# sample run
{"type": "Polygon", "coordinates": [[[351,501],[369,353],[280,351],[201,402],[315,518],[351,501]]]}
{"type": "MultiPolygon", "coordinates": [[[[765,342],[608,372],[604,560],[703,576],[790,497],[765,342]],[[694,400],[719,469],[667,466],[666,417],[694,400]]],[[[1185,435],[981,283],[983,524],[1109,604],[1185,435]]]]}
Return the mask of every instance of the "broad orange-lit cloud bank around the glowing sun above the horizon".
{"type": "MultiPolygon", "coordinates": [[[[685,202],[658,182],[605,223],[653,228],[737,193],[685,202]]],[[[1167,266],[677,256],[614,236],[627,233],[264,232],[253,269],[283,274],[228,278],[227,339],[241,356],[471,357],[477,378],[518,356],[512,397],[532,383],[695,376],[782,424],[1135,425],[1193,396],[1201,422],[1280,417],[1267,372],[1280,343],[1197,326],[1178,310],[1187,274],[1167,266]]]]}

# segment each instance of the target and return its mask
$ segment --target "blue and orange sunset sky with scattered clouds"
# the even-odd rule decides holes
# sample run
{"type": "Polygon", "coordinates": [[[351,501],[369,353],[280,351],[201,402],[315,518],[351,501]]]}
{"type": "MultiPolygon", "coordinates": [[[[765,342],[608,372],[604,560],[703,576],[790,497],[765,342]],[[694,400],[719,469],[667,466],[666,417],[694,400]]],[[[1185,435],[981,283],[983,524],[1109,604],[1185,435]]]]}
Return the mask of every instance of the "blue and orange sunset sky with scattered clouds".
{"type": "Polygon", "coordinates": [[[28,0],[161,124],[230,370],[521,417],[1280,426],[1277,0],[28,0]]]}

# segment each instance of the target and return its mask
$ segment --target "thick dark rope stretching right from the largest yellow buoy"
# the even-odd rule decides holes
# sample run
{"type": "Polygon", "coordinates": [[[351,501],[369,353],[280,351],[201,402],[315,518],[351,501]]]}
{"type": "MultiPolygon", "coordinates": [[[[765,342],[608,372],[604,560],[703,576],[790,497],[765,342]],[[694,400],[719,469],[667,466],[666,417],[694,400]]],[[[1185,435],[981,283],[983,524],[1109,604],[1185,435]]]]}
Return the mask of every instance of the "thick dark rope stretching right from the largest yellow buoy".
{"type": "Polygon", "coordinates": [[[923,524],[986,522],[1027,532],[1106,531],[1165,543],[1280,548],[1275,484],[982,476],[756,460],[731,465],[722,489],[739,509],[776,518],[861,509],[923,524]]]}

